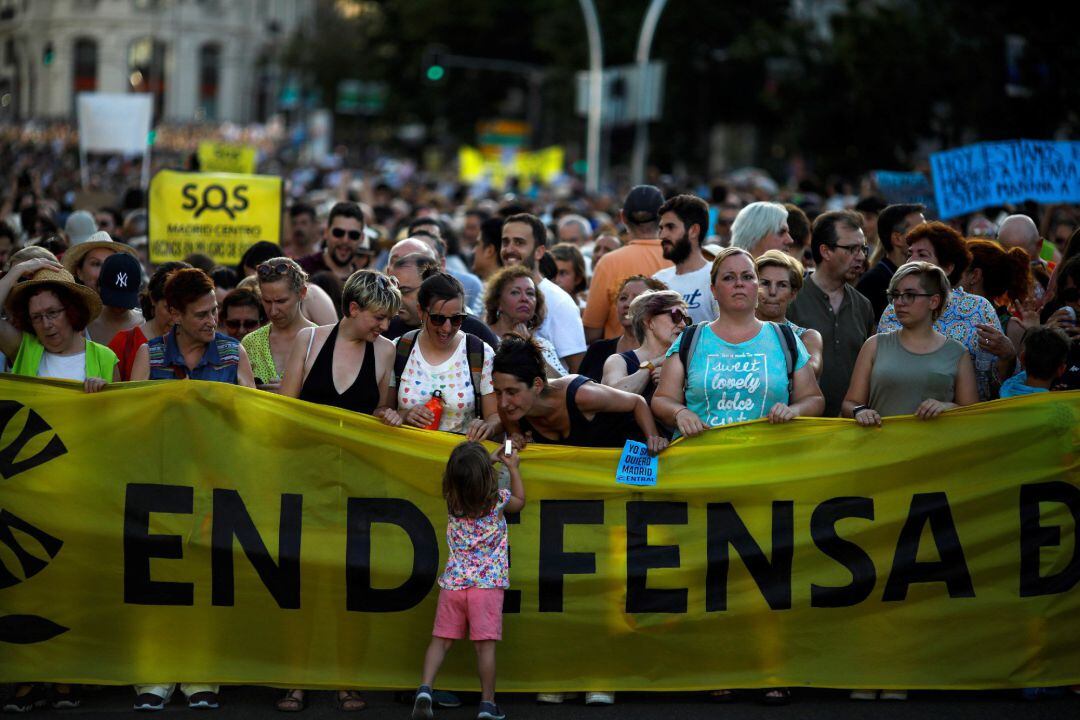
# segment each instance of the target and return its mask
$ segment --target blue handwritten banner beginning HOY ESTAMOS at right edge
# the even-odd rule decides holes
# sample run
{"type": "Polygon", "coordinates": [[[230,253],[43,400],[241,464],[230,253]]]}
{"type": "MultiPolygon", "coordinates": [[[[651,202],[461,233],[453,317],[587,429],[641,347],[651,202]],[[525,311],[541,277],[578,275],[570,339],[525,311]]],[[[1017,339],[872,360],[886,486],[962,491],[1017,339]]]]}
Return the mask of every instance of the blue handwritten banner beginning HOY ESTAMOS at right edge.
{"type": "Polygon", "coordinates": [[[980,142],[930,155],[942,218],[989,205],[1080,201],[1080,142],[980,142]]]}

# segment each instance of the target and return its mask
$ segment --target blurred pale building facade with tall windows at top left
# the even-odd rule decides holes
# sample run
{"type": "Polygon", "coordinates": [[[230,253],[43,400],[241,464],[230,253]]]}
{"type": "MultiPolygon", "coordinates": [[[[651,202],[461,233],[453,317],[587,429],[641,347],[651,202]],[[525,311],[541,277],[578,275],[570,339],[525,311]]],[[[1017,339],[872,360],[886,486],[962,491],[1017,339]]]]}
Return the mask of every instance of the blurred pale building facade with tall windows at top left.
{"type": "Polygon", "coordinates": [[[80,92],[152,93],[165,121],[266,120],[314,0],[0,0],[0,120],[72,119],[80,92]]]}

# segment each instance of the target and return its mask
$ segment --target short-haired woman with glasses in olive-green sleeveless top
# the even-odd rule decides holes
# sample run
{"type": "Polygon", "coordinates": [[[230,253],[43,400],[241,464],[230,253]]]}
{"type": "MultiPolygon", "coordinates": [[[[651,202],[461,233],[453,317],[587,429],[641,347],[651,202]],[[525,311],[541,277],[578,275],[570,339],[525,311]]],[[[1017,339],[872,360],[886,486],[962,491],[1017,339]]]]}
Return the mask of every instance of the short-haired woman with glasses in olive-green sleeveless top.
{"type": "Polygon", "coordinates": [[[978,402],[975,369],[964,347],[934,328],[949,302],[945,271],[930,262],[901,266],[889,281],[900,329],[879,332],[859,352],[841,415],[863,427],[881,418],[931,420],[978,402]]]}

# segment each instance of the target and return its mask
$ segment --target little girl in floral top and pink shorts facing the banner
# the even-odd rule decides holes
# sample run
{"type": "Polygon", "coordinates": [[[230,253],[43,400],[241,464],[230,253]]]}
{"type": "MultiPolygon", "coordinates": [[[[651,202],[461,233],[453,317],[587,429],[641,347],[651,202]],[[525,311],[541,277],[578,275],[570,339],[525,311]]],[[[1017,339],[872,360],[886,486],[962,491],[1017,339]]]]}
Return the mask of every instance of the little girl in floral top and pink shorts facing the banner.
{"type": "Polygon", "coordinates": [[[423,678],[413,705],[413,719],[430,719],[431,685],[455,640],[476,646],[481,703],[477,719],[502,720],[495,704],[495,641],[502,638],[502,594],[510,586],[507,520],[503,513],[525,506],[525,486],[517,451],[500,448],[490,456],[480,443],[454,448],[443,474],[443,497],[449,514],[449,556],[438,579],[438,608],[431,644],[423,657],[423,678]],[[492,463],[510,471],[510,489],[500,490],[492,463]]]}

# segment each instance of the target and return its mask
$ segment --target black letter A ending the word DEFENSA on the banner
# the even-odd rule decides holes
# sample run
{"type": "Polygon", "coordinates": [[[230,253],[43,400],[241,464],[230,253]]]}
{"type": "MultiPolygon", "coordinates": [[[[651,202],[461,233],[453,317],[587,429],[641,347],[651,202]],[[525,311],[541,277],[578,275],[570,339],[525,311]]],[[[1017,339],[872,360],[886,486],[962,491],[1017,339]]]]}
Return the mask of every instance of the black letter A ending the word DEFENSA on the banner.
{"type": "Polygon", "coordinates": [[[907,597],[907,588],[915,583],[945,583],[950,598],[975,597],[960,535],[956,531],[953,511],[944,492],[920,492],[912,497],[912,506],[904,527],[900,530],[892,570],[881,599],[886,602],[903,600],[907,597]],[[927,524],[930,525],[930,533],[941,559],[919,562],[916,559],[919,539],[927,524]]]}

